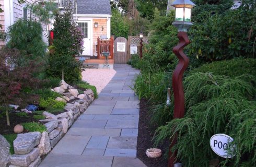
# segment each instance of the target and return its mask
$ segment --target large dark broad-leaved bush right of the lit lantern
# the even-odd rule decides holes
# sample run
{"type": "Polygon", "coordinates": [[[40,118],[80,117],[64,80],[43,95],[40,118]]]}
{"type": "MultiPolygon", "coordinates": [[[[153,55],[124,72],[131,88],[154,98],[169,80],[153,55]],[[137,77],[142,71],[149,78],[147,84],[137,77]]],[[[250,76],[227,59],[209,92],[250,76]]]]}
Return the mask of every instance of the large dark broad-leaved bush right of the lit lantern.
{"type": "Polygon", "coordinates": [[[203,9],[205,4],[195,7],[196,22],[190,29],[192,42],[188,47],[189,54],[208,62],[240,56],[254,57],[256,2],[242,1],[242,5],[235,10],[230,8],[230,1],[223,2],[206,5],[206,11],[203,9]],[[216,6],[227,9],[220,11],[211,8],[216,6]]]}

